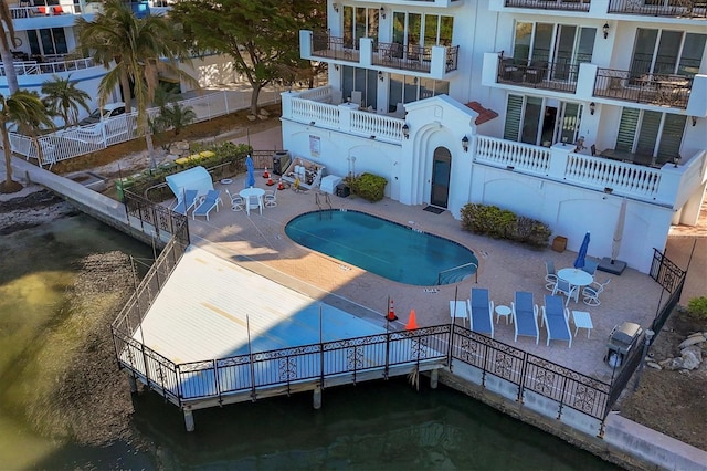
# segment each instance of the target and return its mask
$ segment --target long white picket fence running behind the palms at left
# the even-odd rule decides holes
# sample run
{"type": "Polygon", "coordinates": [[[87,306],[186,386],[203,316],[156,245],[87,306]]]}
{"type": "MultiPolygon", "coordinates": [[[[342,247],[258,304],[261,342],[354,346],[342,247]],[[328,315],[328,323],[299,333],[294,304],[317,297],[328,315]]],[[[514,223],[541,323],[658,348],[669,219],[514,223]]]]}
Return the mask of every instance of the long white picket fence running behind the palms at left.
{"type": "MultiPolygon", "coordinates": [[[[278,90],[263,90],[258,96],[258,106],[279,103],[278,90]]],[[[196,123],[212,119],[251,106],[251,92],[222,91],[180,101],[183,107],[191,107],[197,115],[196,123]]],[[[159,108],[149,108],[154,118],[159,108]]],[[[78,157],[96,150],[105,149],[114,144],[139,137],[137,132],[137,113],[127,113],[105,119],[101,123],[61,129],[38,138],[10,133],[10,145],[15,155],[28,160],[36,159],[40,167],[51,166],[61,160],[78,157]],[[38,149],[41,148],[41,156],[38,149]]]]}

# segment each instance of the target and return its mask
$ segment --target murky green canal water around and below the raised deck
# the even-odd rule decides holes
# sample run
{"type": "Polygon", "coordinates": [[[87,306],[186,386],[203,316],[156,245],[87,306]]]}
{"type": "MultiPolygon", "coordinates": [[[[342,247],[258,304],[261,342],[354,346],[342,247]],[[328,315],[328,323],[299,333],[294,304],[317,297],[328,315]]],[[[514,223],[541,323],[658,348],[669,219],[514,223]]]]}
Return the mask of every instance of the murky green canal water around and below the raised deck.
{"type": "MultiPolygon", "coordinates": [[[[0,238],[0,468],[615,469],[452,389],[431,390],[424,378],[419,391],[405,378],[327,389],[320,410],[312,408],[310,394],[198,410],[192,433],[175,406],[141,391],[118,439],[86,443],[48,432],[56,428],[42,420],[55,406],[38,405],[36,393],[57,388],[60,359],[81,335],[71,327],[81,313],[65,302],[76,262],[114,250],[152,257],[150,248],[84,216],[0,238]],[[57,365],[48,369],[51,362],[57,365]],[[52,374],[40,374],[46,370],[52,374]]],[[[127,396],[127,381],[117,389],[127,396]]],[[[97,436],[102,423],[96,417],[97,436]]]]}

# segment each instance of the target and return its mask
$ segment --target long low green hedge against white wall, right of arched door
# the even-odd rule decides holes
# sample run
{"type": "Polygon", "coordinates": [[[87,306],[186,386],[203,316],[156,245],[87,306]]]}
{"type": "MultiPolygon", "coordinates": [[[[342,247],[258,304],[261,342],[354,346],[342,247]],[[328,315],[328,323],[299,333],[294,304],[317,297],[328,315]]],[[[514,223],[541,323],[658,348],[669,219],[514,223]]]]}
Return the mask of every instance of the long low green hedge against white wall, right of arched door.
{"type": "Polygon", "coordinates": [[[535,247],[546,247],[550,228],[538,220],[516,216],[497,206],[468,203],[462,208],[462,229],[496,239],[509,239],[535,247]]]}

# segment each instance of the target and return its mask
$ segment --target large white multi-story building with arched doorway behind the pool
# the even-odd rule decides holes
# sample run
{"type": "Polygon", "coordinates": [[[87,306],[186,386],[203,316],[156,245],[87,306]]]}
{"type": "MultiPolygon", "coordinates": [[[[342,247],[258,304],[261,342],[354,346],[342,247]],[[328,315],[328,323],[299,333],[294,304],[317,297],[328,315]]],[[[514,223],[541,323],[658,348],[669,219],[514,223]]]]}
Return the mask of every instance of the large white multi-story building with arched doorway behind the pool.
{"type": "Polygon", "coordinates": [[[646,272],[694,224],[707,167],[704,0],[329,1],[300,55],[329,85],[283,94],[294,157],[387,196],[547,222],[646,272]],[[620,227],[620,226],[619,226],[620,227]]]}

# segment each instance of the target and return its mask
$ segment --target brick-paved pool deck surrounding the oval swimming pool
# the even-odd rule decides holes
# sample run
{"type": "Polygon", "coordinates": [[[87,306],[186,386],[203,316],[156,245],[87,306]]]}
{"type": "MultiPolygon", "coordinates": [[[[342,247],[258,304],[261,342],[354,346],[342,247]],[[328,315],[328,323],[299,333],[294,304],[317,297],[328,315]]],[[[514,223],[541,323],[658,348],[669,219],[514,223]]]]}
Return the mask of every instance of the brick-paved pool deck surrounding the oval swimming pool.
{"type": "MultiPolygon", "coordinates": [[[[256,185],[262,188],[265,179],[256,172],[256,185]]],[[[230,185],[217,184],[218,189],[232,193],[243,188],[244,176],[230,185]]],[[[190,218],[192,244],[314,300],[334,305],[342,311],[366,317],[383,326],[388,300],[394,302],[400,317],[395,328],[404,328],[411,310],[415,311],[418,326],[431,326],[451,322],[449,302],[455,296],[466,300],[472,287],[487,287],[495,305],[509,305],[515,291],[529,291],[534,301],[542,305],[549,292],[545,289],[545,260],[552,260],[556,268],[571,266],[576,253],[556,252],[550,248],[531,249],[526,245],[464,231],[461,222],[449,211],[434,214],[423,211],[423,206],[405,206],[390,199],[371,203],[352,196],[330,196],[334,209],[350,209],[368,212],[414,229],[434,233],[456,241],[473,250],[479,260],[478,283],[474,279],[445,286],[412,286],[382,279],[357,266],[331,259],[328,255],[300,247],[288,239],[284,228],[294,217],[319,208],[315,193],[318,190],[295,192],[291,189],[277,191],[277,206],[264,208],[263,214],[251,211],[231,211],[228,196],[223,192],[224,208],[212,212],[210,221],[190,218]]],[[[319,198],[323,200],[323,198],[319,198]]],[[[324,205],[328,208],[328,205],[324,205]]],[[[567,366],[597,379],[610,381],[612,368],[603,360],[606,339],[611,329],[624,321],[646,328],[653,321],[661,303],[661,286],[650,276],[631,268],[621,275],[597,272],[597,280],[611,279],[601,295],[600,306],[587,306],[581,301],[570,301],[569,308],[585,311],[591,315],[593,329],[590,338],[587,329],[580,328],[568,348],[566,342],[552,341],[546,346],[547,333],[540,327],[540,341],[518,337],[515,345],[534,355],[567,366]]],[[[665,294],[664,294],[665,296],[665,294]]],[[[277,300],[261,300],[261,307],[276,304],[277,300]]],[[[253,306],[256,308],[257,306],[253,306]]],[[[494,315],[494,323],[496,316],[494,315]]],[[[457,320],[462,324],[461,320],[457,320]]],[[[574,325],[570,321],[574,334],[574,325]]],[[[514,345],[514,327],[502,318],[495,324],[495,338],[514,345]]]]}

